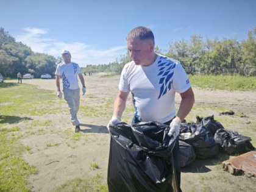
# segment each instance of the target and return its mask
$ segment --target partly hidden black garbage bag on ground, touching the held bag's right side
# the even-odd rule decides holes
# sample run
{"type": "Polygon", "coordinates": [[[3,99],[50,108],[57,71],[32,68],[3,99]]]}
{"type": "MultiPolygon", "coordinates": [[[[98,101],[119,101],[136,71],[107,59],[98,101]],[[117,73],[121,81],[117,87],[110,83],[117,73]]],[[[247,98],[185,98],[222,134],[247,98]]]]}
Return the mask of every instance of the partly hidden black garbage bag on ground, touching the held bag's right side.
{"type": "Polygon", "coordinates": [[[190,163],[192,163],[196,159],[196,154],[194,153],[193,146],[183,141],[179,141],[179,145],[179,166],[184,167],[190,165],[190,163]]]}

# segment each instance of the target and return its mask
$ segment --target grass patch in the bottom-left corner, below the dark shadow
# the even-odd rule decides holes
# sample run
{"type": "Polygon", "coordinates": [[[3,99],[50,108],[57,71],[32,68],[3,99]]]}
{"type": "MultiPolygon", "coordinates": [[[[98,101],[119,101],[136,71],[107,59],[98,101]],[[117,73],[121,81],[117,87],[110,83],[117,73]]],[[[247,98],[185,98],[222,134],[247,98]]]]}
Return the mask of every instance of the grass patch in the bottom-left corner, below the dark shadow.
{"type": "Polygon", "coordinates": [[[22,157],[22,152],[30,148],[18,142],[20,137],[9,137],[9,129],[1,129],[0,191],[30,191],[26,178],[37,173],[35,166],[30,166],[22,157]]]}

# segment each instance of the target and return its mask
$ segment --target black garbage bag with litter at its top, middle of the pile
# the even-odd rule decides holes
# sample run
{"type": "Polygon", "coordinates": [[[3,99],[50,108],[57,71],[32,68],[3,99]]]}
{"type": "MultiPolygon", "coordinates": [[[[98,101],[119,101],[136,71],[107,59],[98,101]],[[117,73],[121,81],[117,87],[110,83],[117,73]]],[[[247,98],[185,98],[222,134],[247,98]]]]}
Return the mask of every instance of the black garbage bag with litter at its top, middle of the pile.
{"type": "Polygon", "coordinates": [[[193,146],[196,158],[206,159],[219,154],[219,146],[204,126],[188,133],[181,133],[179,140],[193,146]]]}

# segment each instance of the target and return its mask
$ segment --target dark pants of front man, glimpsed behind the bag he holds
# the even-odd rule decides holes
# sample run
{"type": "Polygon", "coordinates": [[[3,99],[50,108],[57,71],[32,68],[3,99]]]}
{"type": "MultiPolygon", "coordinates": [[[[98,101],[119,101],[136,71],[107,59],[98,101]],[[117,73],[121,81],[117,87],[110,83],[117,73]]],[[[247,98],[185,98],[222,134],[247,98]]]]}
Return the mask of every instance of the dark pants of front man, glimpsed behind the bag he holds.
{"type": "MultiPolygon", "coordinates": [[[[164,124],[169,126],[171,121],[172,121],[172,119],[170,121],[167,121],[164,124]]],[[[134,124],[134,123],[140,123],[140,120],[138,118],[134,117],[133,120],[132,120],[132,124],[134,124]]],[[[175,167],[175,170],[176,170],[176,177],[177,177],[179,192],[182,192],[182,190],[180,189],[179,152],[180,152],[179,137],[177,137],[176,144],[174,146],[174,149],[172,150],[172,155],[173,155],[173,159],[174,159],[174,167],[175,167]]]]}

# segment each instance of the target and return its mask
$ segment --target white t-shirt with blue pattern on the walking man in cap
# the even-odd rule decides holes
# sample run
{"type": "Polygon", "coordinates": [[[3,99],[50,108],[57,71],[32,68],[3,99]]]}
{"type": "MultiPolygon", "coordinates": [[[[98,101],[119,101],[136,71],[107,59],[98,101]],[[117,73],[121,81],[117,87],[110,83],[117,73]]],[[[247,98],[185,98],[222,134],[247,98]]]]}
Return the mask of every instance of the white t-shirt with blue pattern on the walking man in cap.
{"type": "Polygon", "coordinates": [[[77,63],[71,62],[70,64],[60,63],[57,66],[55,74],[62,76],[63,88],[76,90],[79,88],[77,74],[82,73],[77,63]]]}

